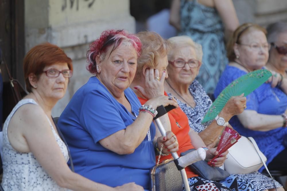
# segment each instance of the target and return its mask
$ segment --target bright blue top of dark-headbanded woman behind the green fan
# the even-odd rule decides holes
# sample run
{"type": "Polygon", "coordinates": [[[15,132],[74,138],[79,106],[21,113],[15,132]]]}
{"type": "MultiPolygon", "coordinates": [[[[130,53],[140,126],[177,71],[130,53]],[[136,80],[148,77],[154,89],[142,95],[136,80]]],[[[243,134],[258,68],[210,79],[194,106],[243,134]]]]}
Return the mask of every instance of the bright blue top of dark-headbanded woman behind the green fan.
{"type": "MultiPolygon", "coordinates": [[[[217,97],[233,80],[245,74],[246,72],[239,68],[226,66],[217,84],[214,97],[217,97]]],[[[255,110],[260,114],[281,115],[287,108],[287,95],[277,87],[272,88],[270,83],[263,83],[246,98],[246,109],[255,110]]],[[[232,117],[229,123],[241,135],[255,139],[259,149],[267,158],[267,165],[285,148],[283,138],[287,134],[287,128],[279,127],[270,131],[253,131],[243,127],[237,116],[232,117]]],[[[259,172],[262,172],[263,169],[264,166],[259,172]]]]}

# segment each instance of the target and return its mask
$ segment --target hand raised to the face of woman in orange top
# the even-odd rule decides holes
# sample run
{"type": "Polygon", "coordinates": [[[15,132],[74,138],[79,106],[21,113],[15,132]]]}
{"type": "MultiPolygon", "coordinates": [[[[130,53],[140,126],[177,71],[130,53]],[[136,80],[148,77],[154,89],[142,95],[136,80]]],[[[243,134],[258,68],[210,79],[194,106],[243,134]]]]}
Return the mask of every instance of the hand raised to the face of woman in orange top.
{"type": "Polygon", "coordinates": [[[145,75],[145,86],[146,88],[143,88],[141,86],[135,86],[134,88],[136,90],[139,90],[141,94],[146,99],[152,99],[158,95],[164,95],[164,79],[165,79],[166,72],[162,72],[162,77],[160,80],[159,78],[159,71],[158,69],[146,69],[146,75],[145,75]]]}

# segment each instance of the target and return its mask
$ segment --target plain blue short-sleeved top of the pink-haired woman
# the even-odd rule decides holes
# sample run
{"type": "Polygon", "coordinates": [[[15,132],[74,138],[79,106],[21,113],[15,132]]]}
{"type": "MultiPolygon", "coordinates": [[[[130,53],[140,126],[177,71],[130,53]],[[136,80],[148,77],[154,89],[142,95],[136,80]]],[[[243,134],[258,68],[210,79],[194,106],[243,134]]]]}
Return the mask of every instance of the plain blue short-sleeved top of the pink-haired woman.
{"type": "Polygon", "coordinates": [[[132,124],[141,106],[130,88],[125,96],[132,113],[120,104],[96,77],[91,77],[59,118],[59,128],[71,152],[75,172],[98,183],[120,186],[135,182],[149,190],[149,171],[155,165],[154,123],[134,153],[119,155],[98,141],[132,124]]]}

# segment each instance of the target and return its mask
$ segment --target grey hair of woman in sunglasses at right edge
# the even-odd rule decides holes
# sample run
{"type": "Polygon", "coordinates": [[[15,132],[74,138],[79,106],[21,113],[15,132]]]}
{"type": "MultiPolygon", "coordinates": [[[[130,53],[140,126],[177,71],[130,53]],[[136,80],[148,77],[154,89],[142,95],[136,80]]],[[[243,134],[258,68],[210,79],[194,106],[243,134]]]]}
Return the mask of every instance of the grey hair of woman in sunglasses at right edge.
{"type": "Polygon", "coordinates": [[[275,42],[278,34],[287,32],[287,22],[276,22],[267,26],[267,41],[268,43],[275,42]]]}

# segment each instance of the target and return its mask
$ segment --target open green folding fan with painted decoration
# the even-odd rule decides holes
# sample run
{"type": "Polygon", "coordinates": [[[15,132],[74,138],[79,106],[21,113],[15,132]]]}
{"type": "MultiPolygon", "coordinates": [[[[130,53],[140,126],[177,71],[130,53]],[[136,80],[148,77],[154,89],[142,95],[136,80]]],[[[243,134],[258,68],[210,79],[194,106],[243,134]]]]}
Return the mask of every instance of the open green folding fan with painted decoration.
{"type": "Polygon", "coordinates": [[[244,93],[247,96],[258,88],[261,84],[266,82],[272,73],[269,70],[260,69],[253,72],[249,72],[233,82],[231,82],[222,92],[218,95],[216,100],[210,106],[208,112],[204,116],[201,123],[210,121],[216,117],[223,109],[227,101],[232,96],[239,96],[244,93]]]}

